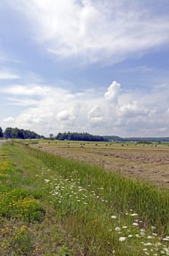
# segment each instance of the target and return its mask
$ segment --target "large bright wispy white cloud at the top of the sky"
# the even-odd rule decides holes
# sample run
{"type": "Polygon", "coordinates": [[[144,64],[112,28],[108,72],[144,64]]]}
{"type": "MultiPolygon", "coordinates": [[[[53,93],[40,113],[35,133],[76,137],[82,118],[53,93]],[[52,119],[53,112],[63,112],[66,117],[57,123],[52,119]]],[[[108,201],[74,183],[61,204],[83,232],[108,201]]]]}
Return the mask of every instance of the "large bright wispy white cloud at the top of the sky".
{"type": "Polygon", "coordinates": [[[141,1],[16,0],[15,8],[28,18],[34,39],[60,58],[114,63],[169,42],[168,16],[141,1]]]}

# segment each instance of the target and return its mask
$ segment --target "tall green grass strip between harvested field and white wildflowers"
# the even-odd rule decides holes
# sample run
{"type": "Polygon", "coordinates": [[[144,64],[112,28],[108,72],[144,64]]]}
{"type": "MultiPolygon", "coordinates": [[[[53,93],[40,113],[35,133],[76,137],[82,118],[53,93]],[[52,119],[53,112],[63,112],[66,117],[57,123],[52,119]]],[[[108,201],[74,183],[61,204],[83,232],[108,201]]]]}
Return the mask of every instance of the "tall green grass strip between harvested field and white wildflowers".
{"type": "MultiPolygon", "coordinates": [[[[88,191],[103,187],[103,197],[107,206],[117,213],[137,212],[146,226],[155,225],[159,233],[169,233],[169,193],[167,189],[141,181],[133,181],[119,173],[106,173],[100,167],[84,162],[55,157],[52,154],[34,148],[25,148],[29,154],[42,159],[47,167],[52,168],[64,178],[72,177],[88,191]],[[90,184],[90,187],[88,185],[90,184]]],[[[100,192],[101,194],[101,192],[100,192]]]]}

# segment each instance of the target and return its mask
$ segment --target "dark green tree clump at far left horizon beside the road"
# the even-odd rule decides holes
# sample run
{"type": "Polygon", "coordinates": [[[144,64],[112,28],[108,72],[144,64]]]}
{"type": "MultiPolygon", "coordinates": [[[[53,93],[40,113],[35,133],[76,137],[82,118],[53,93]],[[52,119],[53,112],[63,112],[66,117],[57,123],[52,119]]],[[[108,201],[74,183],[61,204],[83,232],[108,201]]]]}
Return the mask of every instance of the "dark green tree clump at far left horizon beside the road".
{"type": "Polygon", "coordinates": [[[18,129],[11,127],[7,127],[3,132],[0,127],[0,138],[39,139],[42,138],[42,136],[28,129],[18,129]]]}

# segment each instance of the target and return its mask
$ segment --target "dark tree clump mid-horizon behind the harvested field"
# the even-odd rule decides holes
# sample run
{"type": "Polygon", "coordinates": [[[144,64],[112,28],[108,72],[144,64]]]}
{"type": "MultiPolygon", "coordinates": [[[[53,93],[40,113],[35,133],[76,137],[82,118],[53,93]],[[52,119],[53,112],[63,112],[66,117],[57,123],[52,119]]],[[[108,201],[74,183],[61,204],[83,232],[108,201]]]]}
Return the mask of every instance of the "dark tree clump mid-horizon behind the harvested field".
{"type": "Polygon", "coordinates": [[[56,140],[83,140],[83,141],[107,141],[99,135],[90,135],[87,132],[59,132],[56,140]]]}

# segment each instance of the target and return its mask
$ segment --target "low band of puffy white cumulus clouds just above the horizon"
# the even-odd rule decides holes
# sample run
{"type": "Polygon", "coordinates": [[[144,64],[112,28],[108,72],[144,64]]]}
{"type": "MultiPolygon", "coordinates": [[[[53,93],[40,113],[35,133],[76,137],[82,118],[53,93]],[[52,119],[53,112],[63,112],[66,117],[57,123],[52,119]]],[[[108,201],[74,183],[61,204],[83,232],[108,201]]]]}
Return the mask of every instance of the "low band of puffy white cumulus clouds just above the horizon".
{"type": "Polygon", "coordinates": [[[3,91],[6,104],[15,106],[19,102],[23,106],[15,118],[10,115],[2,120],[4,127],[33,129],[42,135],[68,130],[121,136],[163,136],[169,132],[167,87],[163,89],[160,110],[157,90],[148,95],[144,91],[125,94],[116,81],[104,91],[90,89],[76,93],[39,84],[23,87],[22,93],[15,91],[14,86],[7,86],[3,91]],[[33,91],[37,96],[35,102],[33,91]],[[28,100],[32,105],[28,105],[28,100]]]}

